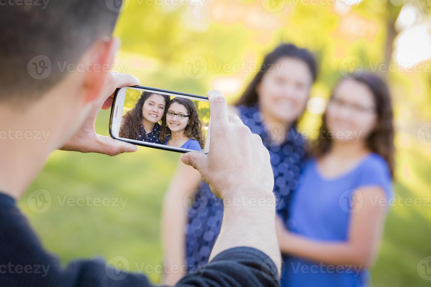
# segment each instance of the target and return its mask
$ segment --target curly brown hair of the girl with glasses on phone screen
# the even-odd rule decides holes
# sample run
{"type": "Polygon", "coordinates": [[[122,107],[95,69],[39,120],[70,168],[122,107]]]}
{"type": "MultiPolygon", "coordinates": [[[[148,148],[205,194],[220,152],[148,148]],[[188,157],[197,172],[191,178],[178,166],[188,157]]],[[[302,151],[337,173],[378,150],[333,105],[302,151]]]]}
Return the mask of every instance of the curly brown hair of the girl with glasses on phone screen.
{"type": "MultiPolygon", "coordinates": [[[[190,99],[176,97],[172,99],[166,105],[166,111],[169,109],[170,105],[173,103],[178,103],[183,105],[187,113],[190,115],[189,122],[187,123],[187,127],[184,129],[184,134],[189,139],[195,139],[199,142],[200,147],[203,149],[205,146],[205,132],[203,130],[202,121],[199,118],[199,114],[197,114],[197,109],[194,103],[190,99]]],[[[162,127],[160,128],[160,142],[165,142],[167,136],[171,134],[171,130],[166,125],[166,112],[162,117],[162,127]]]]}

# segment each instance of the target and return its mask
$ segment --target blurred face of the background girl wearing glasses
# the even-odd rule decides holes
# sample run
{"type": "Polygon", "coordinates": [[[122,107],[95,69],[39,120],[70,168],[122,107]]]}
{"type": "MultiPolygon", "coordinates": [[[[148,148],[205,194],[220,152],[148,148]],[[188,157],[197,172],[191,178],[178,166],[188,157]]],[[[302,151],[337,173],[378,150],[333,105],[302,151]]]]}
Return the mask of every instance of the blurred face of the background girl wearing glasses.
{"type": "Polygon", "coordinates": [[[341,81],[326,111],[326,124],[334,140],[365,140],[376,121],[374,96],[368,86],[355,80],[341,81]]]}

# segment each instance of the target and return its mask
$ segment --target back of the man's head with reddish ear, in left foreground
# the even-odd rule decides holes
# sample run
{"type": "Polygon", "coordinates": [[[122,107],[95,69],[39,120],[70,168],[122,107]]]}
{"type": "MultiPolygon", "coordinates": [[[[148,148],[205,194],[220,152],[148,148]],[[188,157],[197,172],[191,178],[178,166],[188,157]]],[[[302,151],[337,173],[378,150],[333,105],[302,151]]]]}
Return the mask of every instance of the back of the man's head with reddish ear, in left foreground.
{"type": "Polygon", "coordinates": [[[9,1],[1,6],[0,107],[21,111],[13,114],[16,118],[38,114],[34,121],[40,129],[50,122],[62,126],[53,145],[82,123],[112,64],[118,13],[107,2],[9,1]]]}

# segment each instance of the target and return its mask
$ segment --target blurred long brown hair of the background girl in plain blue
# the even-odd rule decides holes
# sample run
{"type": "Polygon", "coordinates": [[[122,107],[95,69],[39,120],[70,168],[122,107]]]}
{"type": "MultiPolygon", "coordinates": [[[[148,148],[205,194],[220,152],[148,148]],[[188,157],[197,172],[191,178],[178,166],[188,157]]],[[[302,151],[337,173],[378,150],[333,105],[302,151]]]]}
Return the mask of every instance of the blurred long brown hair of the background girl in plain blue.
{"type": "MultiPolygon", "coordinates": [[[[375,129],[366,139],[366,146],[370,151],[379,154],[384,158],[389,167],[391,176],[394,177],[394,115],[389,89],[384,80],[381,80],[379,77],[372,74],[362,74],[355,80],[368,86],[372,91],[376,105],[375,111],[377,114],[377,124],[375,129]]],[[[321,157],[331,150],[332,140],[331,137],[326,136],[327,134],[328,126],[326,124],[325,113],[322,116],[322,126],[319,129],[319,138],[316,140],[315,145],[312,148],[312,154],[315,157],[321,157]]]]}

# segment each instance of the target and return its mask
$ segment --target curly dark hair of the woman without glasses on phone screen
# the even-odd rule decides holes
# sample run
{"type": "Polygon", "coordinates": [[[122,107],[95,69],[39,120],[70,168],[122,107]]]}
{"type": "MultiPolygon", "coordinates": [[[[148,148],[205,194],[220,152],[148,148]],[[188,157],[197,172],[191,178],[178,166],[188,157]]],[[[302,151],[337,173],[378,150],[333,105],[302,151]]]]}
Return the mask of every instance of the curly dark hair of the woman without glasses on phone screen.
{"type": "MultiPolygon", "coordinates": [[[[142,108],[144,107],[145,101],[153,94],[155,93],[143,91],[141,93],[141,97],[137,100],[134,107],[131,110],[126,111],[126,113],[123,116],[123,120],[120,127],[120,133],[119,133],[120,138],[135,139],[137,137],[137,134],[139,134],[139,130],[141,129],[142,120],[144,120],[144,117],[142,116],[142,108]]],[[[161,95],[161,94],[156,94],[156,95],[163,96],[166,102],[165,107],[167,107],[171,98],[167,95],[161,95]]],[[[166,108],[165,108],[165,111],[166,111],[166,108]]]]}

